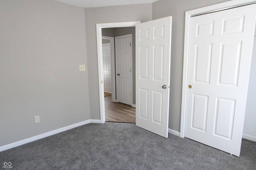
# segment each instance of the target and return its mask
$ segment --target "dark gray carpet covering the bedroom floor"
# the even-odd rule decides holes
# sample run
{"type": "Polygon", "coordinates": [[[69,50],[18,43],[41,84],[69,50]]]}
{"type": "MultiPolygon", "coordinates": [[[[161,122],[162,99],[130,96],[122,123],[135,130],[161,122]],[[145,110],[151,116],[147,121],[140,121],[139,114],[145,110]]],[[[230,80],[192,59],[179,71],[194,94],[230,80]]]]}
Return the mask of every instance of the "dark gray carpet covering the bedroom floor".
{"type": "Polygon", "coordinates": [[[242,140],[240,157],[132,123],[87,124],[0,152],[0,169],[256,169],[256,142],[242,140]],[[10,169],[10,168],[2,168],[10,169]]]}

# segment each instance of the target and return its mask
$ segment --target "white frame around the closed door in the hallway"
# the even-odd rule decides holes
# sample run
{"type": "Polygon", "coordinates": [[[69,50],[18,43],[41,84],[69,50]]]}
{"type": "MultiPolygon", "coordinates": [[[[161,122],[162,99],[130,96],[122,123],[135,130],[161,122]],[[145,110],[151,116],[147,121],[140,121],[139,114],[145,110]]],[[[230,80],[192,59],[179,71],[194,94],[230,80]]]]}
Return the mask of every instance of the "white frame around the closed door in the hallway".
{"type": "MultiPolygon", "coordinates": [[[[134,50],[134,49],[132,49],[132,34],[126,34],[126,35],[121,35],[121,36],[117,36],[117,37],[115,37],[115,42],[117,42],[117,39],[120,39],[120,38],[125,38],[125,37],[130,37],[131,38],[131,51],[130,51],[130,54],[131,54],[131,60],[132,60],[132,50],[134,50]]],[[[117,43],[115,43],[115,51],[117,52],[117,43]]],[[[132,62],[131,62],[131,64],[132,64],[132,62]]],[[[118,68],[118,66],[119,66],[119,64],[117,63],[117,61],[116,61],[116,68],[118,68]]],[[[132,75],[132,68],[133,68],[133,65],[131,65],[131,75],[132,75]]],[[[133,78],[133,76],[132,76],[132,78],[133,78]]],[[[130,79],[130,84],[131,84],[131,96],[130,96],[130,102],[131,102],[131,106],[132,106],[132,104],[133,104],[133,100],[132,100],[132,96],[133,96],[133,89],[132,89],[132,78],[130,79]]],[[[118,83],[118,82],[117,82],[118,83]]],[[[116,84],[116,86],[117,86],[117,84],[116,84]]],[[[118,87],[117,87],[118,88],[118,87]]],[[[117,89],[116,89],[116,91],[117,91],[117,89]]],[[[117,96],[116,96],[116,102],[118,102],[118,92],[116,92],[116,94],[117,94],[117,96]]]]}

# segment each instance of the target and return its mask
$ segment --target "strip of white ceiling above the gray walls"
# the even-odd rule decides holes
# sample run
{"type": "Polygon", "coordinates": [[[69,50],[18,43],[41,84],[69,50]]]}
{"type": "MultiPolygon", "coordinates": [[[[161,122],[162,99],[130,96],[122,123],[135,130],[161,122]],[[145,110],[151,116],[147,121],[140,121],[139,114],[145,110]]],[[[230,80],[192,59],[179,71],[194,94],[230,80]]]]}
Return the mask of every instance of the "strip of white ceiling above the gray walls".
{"type": "Polygon", "coordinates": [[[152,3],[158,0],[55,0],[66,4],[80,6],[83,8],[116,6],[128,4],[145,4],[152,3]]]}

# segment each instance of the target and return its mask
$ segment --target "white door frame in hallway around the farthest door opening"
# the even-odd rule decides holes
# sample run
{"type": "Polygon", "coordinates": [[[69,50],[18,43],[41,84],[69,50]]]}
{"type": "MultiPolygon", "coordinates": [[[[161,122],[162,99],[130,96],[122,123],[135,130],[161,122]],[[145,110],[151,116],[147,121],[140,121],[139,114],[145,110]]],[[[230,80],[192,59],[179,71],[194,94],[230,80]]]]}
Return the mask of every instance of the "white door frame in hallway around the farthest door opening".
{"type": "Polygon", "coordinates": [[[114,37],[107,37],[107,36],[102,36],[102,39],[110,40],[112,102],[116,102],[115,40],[114,40],[114,37]]]}

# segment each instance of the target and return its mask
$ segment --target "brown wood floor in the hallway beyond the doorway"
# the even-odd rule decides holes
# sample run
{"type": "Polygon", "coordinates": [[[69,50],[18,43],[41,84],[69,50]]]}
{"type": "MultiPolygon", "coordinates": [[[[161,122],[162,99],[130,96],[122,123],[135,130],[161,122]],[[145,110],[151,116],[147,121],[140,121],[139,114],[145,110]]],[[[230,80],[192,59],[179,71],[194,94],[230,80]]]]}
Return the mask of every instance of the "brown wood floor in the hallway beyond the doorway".
{"type": "Polygon", "coordinates": [[[106,96],[104,99],[106,121],[136,123],[135,107],[118,102],[112,102],[111,96],[106,96]]]}

